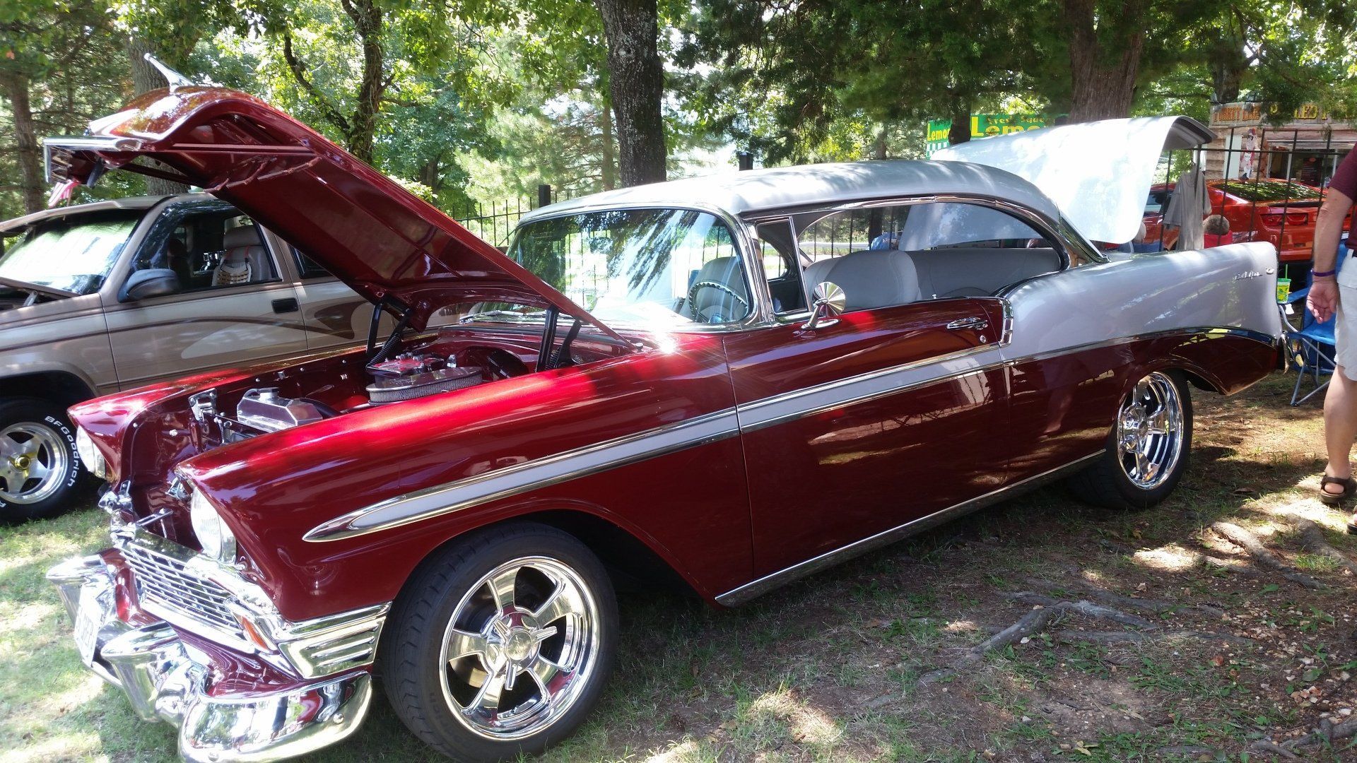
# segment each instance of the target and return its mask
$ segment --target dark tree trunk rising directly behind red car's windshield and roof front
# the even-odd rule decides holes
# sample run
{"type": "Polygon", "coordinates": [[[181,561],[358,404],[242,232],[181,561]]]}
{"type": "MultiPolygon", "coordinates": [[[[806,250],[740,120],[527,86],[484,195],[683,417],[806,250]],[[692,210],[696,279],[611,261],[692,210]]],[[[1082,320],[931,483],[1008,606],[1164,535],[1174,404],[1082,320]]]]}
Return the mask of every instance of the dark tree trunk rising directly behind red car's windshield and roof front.
{"type": "Polygon", "coordinates": [[[623,186],[665,179],[665,72],[657,0],[594,0],[608,41],[608,87],[623,186]]]}

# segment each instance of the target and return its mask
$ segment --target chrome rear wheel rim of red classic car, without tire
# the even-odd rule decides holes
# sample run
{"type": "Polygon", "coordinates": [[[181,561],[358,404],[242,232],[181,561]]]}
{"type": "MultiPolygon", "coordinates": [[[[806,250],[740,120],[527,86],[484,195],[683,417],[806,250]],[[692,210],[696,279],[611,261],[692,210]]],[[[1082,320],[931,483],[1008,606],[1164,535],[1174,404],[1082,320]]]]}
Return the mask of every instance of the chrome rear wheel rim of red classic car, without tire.
{"type": "Polygon", "coordinates": [[[1174,380],[1159,371],[1136,383],[1117,414],[1121,470],[1141,490],[1164,483],[1183,447],[1183,405],[1174,380]]]}

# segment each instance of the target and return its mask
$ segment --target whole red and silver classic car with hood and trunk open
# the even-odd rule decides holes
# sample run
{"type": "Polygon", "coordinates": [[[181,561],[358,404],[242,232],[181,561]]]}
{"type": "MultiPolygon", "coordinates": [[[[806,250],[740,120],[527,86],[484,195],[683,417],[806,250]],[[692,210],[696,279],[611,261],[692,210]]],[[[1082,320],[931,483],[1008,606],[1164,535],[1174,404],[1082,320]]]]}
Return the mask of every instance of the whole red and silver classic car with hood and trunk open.
{"type": "MultiPolygon", "coordinates": [[[[1151,166],[1209,138],[1048,134],[1087,130],[1151,166]]],[[[1148,175],[1106,220],[984,156],[769,168],[539,209],[501,254],[239,92],[152,92],[46,151],[57,179],[201,185],[375,305],[366,348],[71,409],[113,544],[49,577],[190,760],[341,740],[375,676],[446,755],[541,751],[612,669],[615,574],[734,606],[1058,478],[1152,505],[1190,387],[1259,380],[1280,333],[1267,244],[1088,243],[1139,227],[1148,175]]]]}

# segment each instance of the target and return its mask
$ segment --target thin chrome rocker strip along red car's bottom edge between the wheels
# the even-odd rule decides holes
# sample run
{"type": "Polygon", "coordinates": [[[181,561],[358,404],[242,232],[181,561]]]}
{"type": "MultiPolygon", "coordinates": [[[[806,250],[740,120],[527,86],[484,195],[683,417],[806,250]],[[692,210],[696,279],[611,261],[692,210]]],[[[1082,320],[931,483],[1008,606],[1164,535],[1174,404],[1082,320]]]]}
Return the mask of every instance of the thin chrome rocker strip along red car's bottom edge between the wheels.
{"type": "Polygon", "coordinates": [[[791,581],[801,580],[801,578],[803,578],[806,576],[814,574],[814,573],[817,573],[817,572],[820,572],[822,569],[826,569],[826,567],[832,567],[835,565],[839,565],[839,563],[841,563],[841,562],[844,562],[847,559],[851,559],[854,557],[859,557],[859,555],[866,554],[868,551],[875,551],[877,548],[881,548],[883,546],[889,546],[889,544],[894,543],[896,540],[900,540],[900,539],[906,538],[909,535],[915,535],[917,532],[923,532],[923,531],[930,529],[932,527],[936,527],[936,525],[939,525],[939,524],[942,524],[944,521],[950,521],[950,520],[954,520],[954,519],[957,519],[959,516],[969,515],[972,512],[982,509],[985,506],[991,506],[991,505],[997,504],[999,501],[1003,501],[1003,500],[1006,500],[1006,498],[1008,498],[1008,497],[1011,497],[1011,496],[1014,496],[1014,494],[1016,494],[1019,491],[1033,490],[1035,487],[1039,487],[1042,485],[1046,485],[1049,482],[1060,479],[1061,477],[1065,477],[1068,474],[1079,471],[1080,468],[1083,468],[1086,464],[1088,464],[1094,459],[1098,459],[1099,456],[1102,456],[1105,452],[1106,451],[1098,451],[1096,453],[1090,453],[1090,455],[1087,455],[1087,456],[1084,456],[1082,459],[1076,459],[1073,462],[1069,462],[1065,466],[1060,466],[1060,467],[1056,467],[1056,468],[1053,468],[1050,471],[1044,471],[1041,474],[1035,474],[1033,477],[1029,477],[1027,479],[1022,479],[1019,482],[1014,482],[1012,485],[1006,485],[1004,487],[1000,487],[997,490],[992,490],[989,493],[985,493],[984,496],[980,496],[978,498],[972,498],[969,501],[962,501],[962,502],[959,502],[959,504],[957,504],[954,506],[949,506],[946,509],[940,509],[940,510],[934,512],[931,515],[927,515],[927,516],[923,516],[923,517],[919,517],[919,519],[915,519],[915,520],[909,520],[905,524],[901,524],[898,527],[893,527],[890,529],[883,529],[883,531],[881,531],[881,532],[878,532],[875,535],[870,535],[867,538],[863,538],[862,540],[855,540],[855,542],[852,542],[852,543],[849,543],[847,546],[843,546],[840,548],[835,548],[833,551],[825,551],[824,554],[820,554],[818,557],[813,557],[810,559],[806,559],[805,562],[798,562],[798,563],[795,563],[795,565],[792,565],[790,567],[778,570],[775,573],[765,574],[765,576],[760,577],[759,580],[746,582],[746,584],[741,585],[740,588],[734,588],[731,591],[727,591],[727,592],[716,596],[716,601],[721,603],[721,604],[723,604],[723,606],[726,606],[726,607],[734,607],[737,604],[744,604],[745,601],[749,601],[750,599],[754,599],[756,596],[761,596],[761,595],[772,591],[773,588],[779,588],[779,587],[786,585],[786,584],[788,584],[791,581]]]}

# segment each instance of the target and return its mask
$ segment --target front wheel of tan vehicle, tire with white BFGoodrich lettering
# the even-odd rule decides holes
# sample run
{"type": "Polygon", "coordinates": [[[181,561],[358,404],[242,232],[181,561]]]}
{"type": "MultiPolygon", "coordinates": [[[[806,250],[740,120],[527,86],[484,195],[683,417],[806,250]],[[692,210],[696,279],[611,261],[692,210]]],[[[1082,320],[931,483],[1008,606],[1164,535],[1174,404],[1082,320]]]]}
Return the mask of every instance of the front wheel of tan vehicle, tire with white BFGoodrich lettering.
{"type": "Polygon", "coordinates": [[[65,411],[37,398],[0,402],[0,521],[56,516],[84,486],[65,411]]]}

